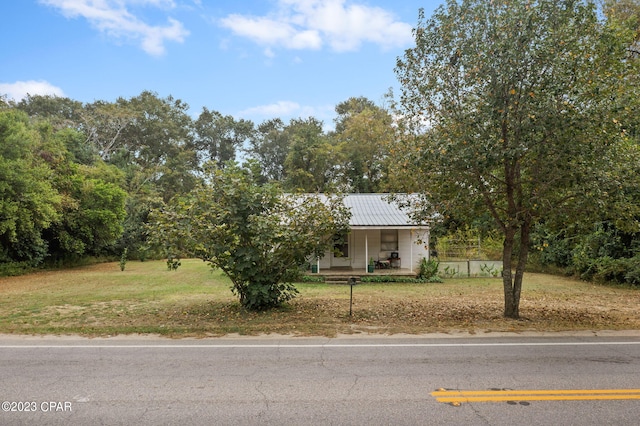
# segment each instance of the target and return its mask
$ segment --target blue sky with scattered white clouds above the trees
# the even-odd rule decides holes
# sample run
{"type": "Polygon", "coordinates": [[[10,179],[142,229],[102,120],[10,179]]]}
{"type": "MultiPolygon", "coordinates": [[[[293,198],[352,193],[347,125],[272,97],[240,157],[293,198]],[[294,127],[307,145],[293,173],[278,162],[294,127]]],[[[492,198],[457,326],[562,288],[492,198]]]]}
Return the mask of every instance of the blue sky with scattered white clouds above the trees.
{"type": "Polygon", "coordinates": [[[0,94],[114,101],[144,90],[253,120],[331,125],[382,104],[419,8],[443,0],[12,0],[0,4],[0,94]]]}

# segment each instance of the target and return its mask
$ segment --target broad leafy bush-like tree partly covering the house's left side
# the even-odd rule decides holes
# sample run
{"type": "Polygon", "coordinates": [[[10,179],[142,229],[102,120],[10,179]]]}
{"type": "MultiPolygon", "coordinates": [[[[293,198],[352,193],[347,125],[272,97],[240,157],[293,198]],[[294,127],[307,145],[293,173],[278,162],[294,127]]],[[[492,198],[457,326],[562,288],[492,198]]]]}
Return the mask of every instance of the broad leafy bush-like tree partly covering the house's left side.
{"type": "Polygon", "coordinates": [[[260,185],[257,169],[206,167],[206,183],[154,214],[152,234],[169,256],[191,255],[221,269],[244,307],[263,310],[296,295],[299,268],[332,246],[348,212],[337,197],[260,185]]]}

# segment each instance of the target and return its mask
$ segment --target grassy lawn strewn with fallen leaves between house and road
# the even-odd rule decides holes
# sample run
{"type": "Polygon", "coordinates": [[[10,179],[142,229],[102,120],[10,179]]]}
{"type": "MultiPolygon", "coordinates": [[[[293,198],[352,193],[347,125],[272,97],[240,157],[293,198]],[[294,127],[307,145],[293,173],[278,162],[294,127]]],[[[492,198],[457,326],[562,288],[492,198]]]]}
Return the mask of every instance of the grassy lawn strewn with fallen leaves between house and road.
{"type": "Polygon", "coordinates": [[[640,289],[527,274],[522,319],[502,318],[502,282],[298,284],[298,298],[269,312],[247,312],[220,272],[199,260],[177,271],[164,262],[117,263],[0,278],[0,333],[172,337],[280,333],[429,333],[640,329],[640,289]]]}

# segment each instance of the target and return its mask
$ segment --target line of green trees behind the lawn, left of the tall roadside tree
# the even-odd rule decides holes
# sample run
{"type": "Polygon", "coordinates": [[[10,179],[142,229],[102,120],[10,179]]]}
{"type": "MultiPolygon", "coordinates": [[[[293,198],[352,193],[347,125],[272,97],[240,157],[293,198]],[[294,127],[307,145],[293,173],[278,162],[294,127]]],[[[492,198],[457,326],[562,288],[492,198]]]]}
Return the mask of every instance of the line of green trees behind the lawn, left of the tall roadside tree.
{"type": "Polygon", "coordinates": [[[114,102],[52,96],[0,102],[0,264],[19,271],[87,256],[157,255],[148,217],[205,178],[251,167],[288,192],[385,190],[390,113],[350,98],[335,130],[314,117],[258,125],[149,91],[114,102]]]}

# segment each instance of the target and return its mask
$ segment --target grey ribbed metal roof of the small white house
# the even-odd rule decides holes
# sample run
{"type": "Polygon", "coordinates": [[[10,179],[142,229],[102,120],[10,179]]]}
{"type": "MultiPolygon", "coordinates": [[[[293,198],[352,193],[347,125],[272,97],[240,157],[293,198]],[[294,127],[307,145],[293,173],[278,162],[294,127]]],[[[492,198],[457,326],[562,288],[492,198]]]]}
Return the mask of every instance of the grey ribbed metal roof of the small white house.
{"type": "Polygon", "coordinates": [[[389,200],[389,194],[347,194],[344,205],[351,210],[352,228],[420,226],[389,200]]]}

